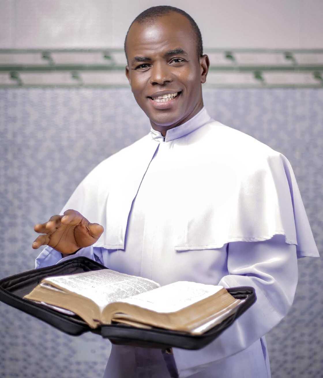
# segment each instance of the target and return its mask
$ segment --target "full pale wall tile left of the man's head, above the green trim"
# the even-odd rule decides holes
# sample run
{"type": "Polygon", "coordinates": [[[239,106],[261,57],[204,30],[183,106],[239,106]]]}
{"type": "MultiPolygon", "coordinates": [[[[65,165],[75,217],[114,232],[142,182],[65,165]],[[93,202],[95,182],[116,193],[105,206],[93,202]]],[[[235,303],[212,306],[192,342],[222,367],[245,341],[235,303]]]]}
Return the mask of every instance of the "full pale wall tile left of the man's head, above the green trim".
{"type": "Polygon", "coordinates": [[[14,0],[15,48],[110,45],[111,4],[107,0],[14,0]]]}

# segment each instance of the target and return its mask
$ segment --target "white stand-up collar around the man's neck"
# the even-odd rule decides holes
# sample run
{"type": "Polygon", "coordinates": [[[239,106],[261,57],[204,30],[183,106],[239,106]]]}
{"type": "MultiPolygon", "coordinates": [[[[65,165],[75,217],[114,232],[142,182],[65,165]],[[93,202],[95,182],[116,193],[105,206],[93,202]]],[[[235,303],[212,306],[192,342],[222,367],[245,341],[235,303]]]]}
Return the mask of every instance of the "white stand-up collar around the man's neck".
{"type": "Polygon", "coordinates": [[[161,135],[161,132],[153,129],[152,126],[150,127],[150,134],[152,136],[152,139],[155,139],[158,142],[169,142],[174,139],[181,138],[182,136],[198,129],[206,122],[210,121],[210,119],[211,117],[203,106],[199,113],[197,113],[193,118],[178,126],[173,127],[172,129],[168,129],[166,131],[165,139],[163,135],[161,135]]]}

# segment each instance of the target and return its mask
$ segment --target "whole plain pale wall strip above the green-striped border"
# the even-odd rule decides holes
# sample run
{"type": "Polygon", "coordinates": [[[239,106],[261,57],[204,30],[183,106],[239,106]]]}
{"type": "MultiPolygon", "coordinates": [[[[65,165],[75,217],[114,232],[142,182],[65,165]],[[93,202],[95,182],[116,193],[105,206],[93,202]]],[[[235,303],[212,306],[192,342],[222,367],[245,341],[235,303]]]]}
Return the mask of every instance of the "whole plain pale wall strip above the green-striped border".
{"type": "MultiPolygon", "coordinates": [[[[121,47],[160,0],[1,0],[0,48],[121,47]]],[[[320,48],[322,0],[164,0],[199,25],[205,47],[320,48]]]]}

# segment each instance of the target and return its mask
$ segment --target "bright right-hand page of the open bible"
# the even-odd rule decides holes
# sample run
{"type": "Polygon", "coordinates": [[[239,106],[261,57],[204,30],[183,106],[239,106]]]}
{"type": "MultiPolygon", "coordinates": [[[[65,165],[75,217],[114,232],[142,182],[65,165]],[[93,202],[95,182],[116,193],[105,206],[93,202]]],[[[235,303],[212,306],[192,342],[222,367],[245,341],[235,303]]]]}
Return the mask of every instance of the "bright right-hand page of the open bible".
{"type": "Polygon", "coordinates": [[[217,293],[222,288],[223,286],[178,281],[118,302],[137,305],[156,312],[168,313],[199,302],[217,293]]]}

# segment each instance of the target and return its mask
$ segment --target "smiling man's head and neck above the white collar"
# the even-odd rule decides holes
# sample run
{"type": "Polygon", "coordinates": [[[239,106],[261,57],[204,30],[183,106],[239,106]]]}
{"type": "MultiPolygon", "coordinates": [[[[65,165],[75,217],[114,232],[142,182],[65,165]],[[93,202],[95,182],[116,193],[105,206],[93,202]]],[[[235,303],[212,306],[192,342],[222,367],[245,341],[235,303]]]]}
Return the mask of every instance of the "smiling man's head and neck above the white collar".
{"type": "Polygon", "coordinates": [[[206,81],[209,60],[202,55],[202,37],[197,26],[192,27],[193,19],[177,12],[161,17],[157,12],[158,22],[148,10],[129,28],[126,75],[152,127],[165,136],[166,130],[203,108],[201,83],[206,81]]]}

